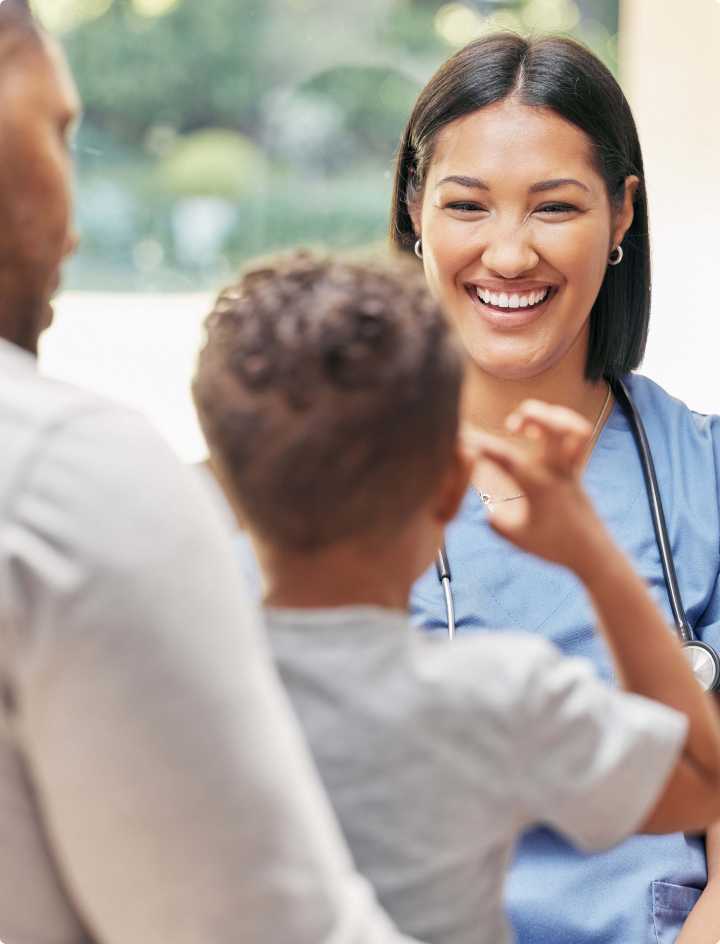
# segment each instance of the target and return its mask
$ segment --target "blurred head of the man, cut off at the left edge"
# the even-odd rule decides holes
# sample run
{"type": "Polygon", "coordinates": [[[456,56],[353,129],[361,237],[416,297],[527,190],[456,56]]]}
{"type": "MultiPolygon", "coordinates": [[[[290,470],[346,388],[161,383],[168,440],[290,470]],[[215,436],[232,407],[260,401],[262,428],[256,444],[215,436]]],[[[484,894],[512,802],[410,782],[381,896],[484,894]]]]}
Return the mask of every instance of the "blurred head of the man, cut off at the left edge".
{"type": "Polygon", "coordinates": [[[35,353],[76,243],[68,134],[79,101],[25,0],[0,2],[0,337],[35,353]]]}

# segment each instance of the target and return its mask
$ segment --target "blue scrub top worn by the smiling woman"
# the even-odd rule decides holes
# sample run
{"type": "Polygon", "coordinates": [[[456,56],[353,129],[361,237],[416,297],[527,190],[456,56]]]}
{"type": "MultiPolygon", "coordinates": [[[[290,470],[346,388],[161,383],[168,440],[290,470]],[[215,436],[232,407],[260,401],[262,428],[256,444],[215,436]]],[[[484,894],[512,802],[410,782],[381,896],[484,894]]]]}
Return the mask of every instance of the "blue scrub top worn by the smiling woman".
{"type": "MultiPolygon", "coordinates": [[[[720,420],[692,413],[644,377],[626,382],[653,452],[688,619],[701,639],[720,648],[720,420]]],[[[672,625],[642,467],[617,404],[584,481],[672,625]]],[[[579,581],[498,537],[474,490],[446,537],[458,632],[507,627],[541,633],[568,655],[591,659],[612,681],[579,581]]],[[[447,630],[434,568],[416,583],[411,612],[417,625],[447,630]]],[[[534,829],[518,844],[506,903],[518,944],[671,944],[706,879],[702,837],[637,836],[609,852],[584,855],[551,830],[534,829]]]]}

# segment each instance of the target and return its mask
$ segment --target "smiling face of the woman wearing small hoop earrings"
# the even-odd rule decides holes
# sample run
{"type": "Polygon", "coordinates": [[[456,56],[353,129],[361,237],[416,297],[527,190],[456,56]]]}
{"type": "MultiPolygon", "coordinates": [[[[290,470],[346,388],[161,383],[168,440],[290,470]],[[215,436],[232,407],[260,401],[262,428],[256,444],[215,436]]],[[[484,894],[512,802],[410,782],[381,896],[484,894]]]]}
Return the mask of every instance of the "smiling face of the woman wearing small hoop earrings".
{"type": "Polygon", "coordinates": [[[611,210],[589,139],[547,109],[506,100],[438,134],[413,223],[430,288],[482,371],[526,380],[570,358],[583,374],[636,186],[611,210]]]}

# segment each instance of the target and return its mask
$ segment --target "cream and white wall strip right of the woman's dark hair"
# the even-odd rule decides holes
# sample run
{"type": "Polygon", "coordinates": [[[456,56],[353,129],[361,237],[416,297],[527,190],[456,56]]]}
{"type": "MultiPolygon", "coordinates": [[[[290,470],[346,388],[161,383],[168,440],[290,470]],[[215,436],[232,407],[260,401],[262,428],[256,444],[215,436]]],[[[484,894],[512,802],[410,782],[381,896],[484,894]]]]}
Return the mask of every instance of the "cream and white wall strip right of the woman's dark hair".
{"type": "Polygon", "coordinates": [[[720,2],[621,0],[620,55],[654,244],[643,371],[720,413],[720,2]]]}

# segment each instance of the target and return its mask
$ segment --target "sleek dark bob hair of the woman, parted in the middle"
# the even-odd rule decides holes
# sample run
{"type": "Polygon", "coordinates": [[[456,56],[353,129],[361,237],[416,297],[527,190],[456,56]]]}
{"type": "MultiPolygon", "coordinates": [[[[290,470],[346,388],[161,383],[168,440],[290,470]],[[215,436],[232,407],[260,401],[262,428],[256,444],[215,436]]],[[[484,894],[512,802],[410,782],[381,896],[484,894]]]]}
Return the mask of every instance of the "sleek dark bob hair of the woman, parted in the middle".
{"type": "Polygon", "coordinates": [[[456,53],[420,93],[398,153],[390,238],[412,252],[409,207],[422,199],[438,132],[451,121],[513,97],[548,108],[584,131],[611,205],[625,179],[640,179],[622,263],[609,267],[590,315],[588,379],[615,377],[642,361],[650,315],[650,239],[640,142],[630,106],[611,73],[570,39],[512,33],[478,39],[456,53]]]}

